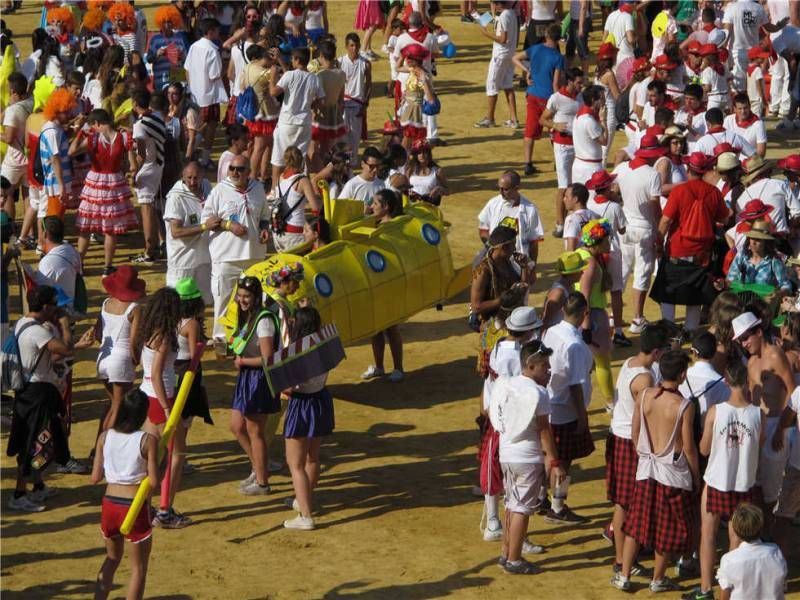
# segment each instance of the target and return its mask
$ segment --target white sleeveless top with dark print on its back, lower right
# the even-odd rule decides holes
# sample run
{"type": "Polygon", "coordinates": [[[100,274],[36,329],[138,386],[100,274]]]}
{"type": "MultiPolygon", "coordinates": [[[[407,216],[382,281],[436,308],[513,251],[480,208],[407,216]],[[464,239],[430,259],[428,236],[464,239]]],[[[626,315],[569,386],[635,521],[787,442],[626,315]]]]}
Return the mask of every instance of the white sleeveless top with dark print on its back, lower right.
{"type": "Polygon", "coordinates": [[[711,453],[703,477],[720,492],[747,492],[755,485],[761,439],[761,409],[717,404],[711,453]]]}

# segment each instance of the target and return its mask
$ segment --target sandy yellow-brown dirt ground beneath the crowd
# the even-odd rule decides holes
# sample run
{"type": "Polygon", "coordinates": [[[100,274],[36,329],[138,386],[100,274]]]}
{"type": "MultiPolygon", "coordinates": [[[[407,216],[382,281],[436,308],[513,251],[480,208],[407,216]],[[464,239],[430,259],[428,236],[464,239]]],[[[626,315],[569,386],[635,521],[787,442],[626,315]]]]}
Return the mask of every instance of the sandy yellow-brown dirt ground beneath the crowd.
{"type": "MultiPolygon", "coordinates": [[[[343,40],[356,3],[331,2],[329,6],[333,32],[343,40]]],[[[38,23],[39,11],[38,3],[26,2],[21,11],[6,18],[23,58],[30,51],[27,32],[38,23]]],[[[153,28],[153,8],[146,12],[153,28]]],[[[456,264],[461,265],[471,260],[479,246],[476,216],[496,193],[498,175],[506,168],[520,167],[522,132],[472,127],[485,111],[490,43],[479,35],[477,26],[459,22],[455,3],[445,5],[438,22],[458,46],[454,60],[438,61],[440,127],[448,146],[437,148],[435,156],[453,191],[444,201],[444,210],[452,222],[449,240],[456,264]]],[[[598,38],[597,32],[592,35],[594,46],[598,38]]],[[[373,49],[380,51],[380,47],[381,38],[376,35],[373,49]]],[[[390,101],[381,93],[388,73],[386,59],[373,68],[369,125],[374,131],[386,118],[390,101]]],[[[518,91],[516,98],[520,120],[524,120],[524,94],[518,91]]],[[[506,118],[501,99],[497,120],[506,118]]],[[[623,137],[617,134],[616,146],[623,137]]],[[[771,158],[786,154],[788,147],[797,147],[797,137],[770,132],[771,158]]],[[[537,203],[547,232],[540,252],[540,279],[532,295],[537,307],[553,280],[553,263],[562,248],[561,241],[550,235],[555,174],[549,150],[547,141],[536,144],[542,174],[523,183],[523,193],[537,203]]],[[[139,248],[138,238],[131,236],[123,241],[118,256],[139,248]]],[[[33,261],[34,257],[28,254],[26,258],[33,261]]],[[[103,297],[101,260],[101,247],[93,246],[87,270],[90,305],[95,310],[103,297]]],[[[151,290],[163,284],[163,265],[144,273],[151,290]]],[[[238,481],[249,468],[228,431],[232,365],[207,354],[204,369],[216,424],[193,426],[189,460],[197,471],[184,478],[176,503],[195,524],[184,530],[155,531],[147,597],[523,598],[537,593],[570,599],[621,597],[608,584],[613,553],[600,536],[611,511],[603,481],[609,419],[599,398],[594,399],[590,413],[597,449],[578,463],[570,493],[570,505],[591,522],[561,527],[533,518],[532,538],[546,546],[546,553],[535,557],[542,572],[533,577],[504,574],[496,564],[499,544],[482,540],[482,500],[470,493],[476,482],[474,418],[480,381],[474,374],[477,339],[466,326],[466,303],[462,294],[443,310],[426,310],[402,326],[407,376],[400,384],[362,382],[359,373],[371,361],[369,345],[347,348],[347,360],[329,380],[336,398],[337,428],[323,445],[323,473],[316,495],[318,528],[312,532],[290,532],[281,526],[292,516],[283,503],[292,495],[286,471],[271,478],[273,492],[266,498],[238,493],[238,481]]],[[[656,316],[654,309],[648,303],[650,316],[656,316]]],[[[627,308],[626,317],[630,317],[627,308]]],[[[88,325],[80,324],[79,331],[88,325]]],[[[628,355],[616,351],[615,367],[628,355]]],[[[96,350],[81,352],[75,368],[71,444],[74,455],[83,459],[92,447],[97,418],[106,402],[95,379],[95,358],[96,350]]],[[[3,432],[4,446],[6,441],[7,432],[3,432]]],[[[99,531],[103,486],[91,485],[85,476],[48,475],[48,483],[60,489],[48,501],[48,510],[36,515],[12,513],[5,509],[5,501],[13,489],[14,463],[3,456],[2,467],[4,599],[89,597],[104,555],[99,531]]],[[[800,546],[800,529],[794,531],[800,546]]],[[[112,597],[124,596],[127,576],[123,562],[112,597]]],[[[688,588],[696,581],[681,583],[688,588]]],[[[635,585],[638,596],[649,594],[644,579],[635,580],[635,585]]],[[[789,591],[789,597],[800,597],[797,562],[789,591]]]]}

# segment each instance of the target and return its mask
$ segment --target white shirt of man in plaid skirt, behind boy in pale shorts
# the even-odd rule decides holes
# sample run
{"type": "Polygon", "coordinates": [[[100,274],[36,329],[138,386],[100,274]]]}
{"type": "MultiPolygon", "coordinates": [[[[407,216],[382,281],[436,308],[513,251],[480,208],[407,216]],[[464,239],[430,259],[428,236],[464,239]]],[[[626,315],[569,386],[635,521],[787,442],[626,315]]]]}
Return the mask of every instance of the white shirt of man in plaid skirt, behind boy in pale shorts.
{"type": "Polygon", "coordinates": [[[577,420],[578,415],[572,406],[570,386],[583,386],[583,401],[587,407],[592,399],[592,352],[581,338],[577,327],[567,321],[550,327],[542,341],[553,350],[550,356],[550,383],[547,384],[547,392],[550,394],[550,423],[571,423],[577,420]]]}

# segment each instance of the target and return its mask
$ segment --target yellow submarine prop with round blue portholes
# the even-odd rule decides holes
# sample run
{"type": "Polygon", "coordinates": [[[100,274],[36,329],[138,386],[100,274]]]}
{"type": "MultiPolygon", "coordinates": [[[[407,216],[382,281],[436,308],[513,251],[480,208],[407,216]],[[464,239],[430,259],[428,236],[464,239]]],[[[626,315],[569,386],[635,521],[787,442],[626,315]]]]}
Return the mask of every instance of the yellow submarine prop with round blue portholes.
{"type": "MultiPolygon", "coordinates": [[[[314,251],[303,244],[246,269],[265,293],[274,291],[270,273],[301,262],[305,278],[292,299],[309,298],[322,321],[335,323],[348,344],[402,323],[469,285],[472,268],[453,268],[438,207],[406,202],[403,215],[376,225],[374,217],[364,216],[363,202],[332,200],[327,183],[321,184],[333,241],[314,251]]],[[[234,293],[220,323],[231,335],[237,322],[234,293]]]]}

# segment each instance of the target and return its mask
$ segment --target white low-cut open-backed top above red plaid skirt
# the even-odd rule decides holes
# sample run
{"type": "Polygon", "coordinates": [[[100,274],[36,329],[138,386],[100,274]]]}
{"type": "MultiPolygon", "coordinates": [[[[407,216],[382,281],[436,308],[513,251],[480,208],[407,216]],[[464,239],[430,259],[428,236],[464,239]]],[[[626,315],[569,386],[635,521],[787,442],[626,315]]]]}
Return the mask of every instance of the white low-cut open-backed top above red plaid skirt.
{"type": "Polygon", "coordinates": [[[655,397],[655,394],[647,393],[652,389],[656,388],[649,388],[642,394],[642,406],[639,410],[639,439],[636,441],[639,464],[636,467],[636,479],[637,481],[655,479],[661,485],[692,491],[692,472],[689,470],[686,455],[681,451],[679,456],[675,456],[675,436],[680,433],[683,414],[691,402],[686,398],[681,401],[669,441],[664,449],[656,454],[653,451],[653,443],[650,441],[650,434],[647,432],[647,424],[644,419],[645,403],[648,400],[652,401],[655,397]]]}

